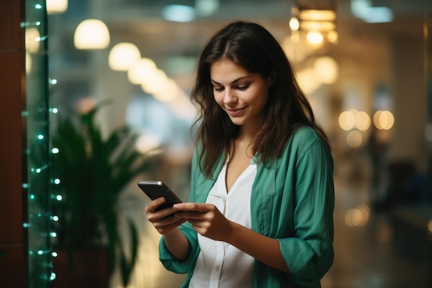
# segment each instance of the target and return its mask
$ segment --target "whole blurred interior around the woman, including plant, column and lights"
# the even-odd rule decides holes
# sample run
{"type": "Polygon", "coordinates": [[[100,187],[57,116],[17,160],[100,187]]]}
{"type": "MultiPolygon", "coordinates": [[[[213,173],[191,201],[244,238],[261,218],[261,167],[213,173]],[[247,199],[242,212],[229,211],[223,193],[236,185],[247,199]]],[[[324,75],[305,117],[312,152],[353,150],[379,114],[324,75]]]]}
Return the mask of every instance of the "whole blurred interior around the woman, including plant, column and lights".
{"type": "Polygon", "coordinates": [[[279,41],[331,142],[335,259],[322,288],[432,287],[430,0],[11,2],[0,12],[1,287],[181,286],[159,262],[137,181],[188,199],[197,59],[240,19],[279,41]],[[71,258],[90,250],[86,237],[102,253],[71,258]]]}

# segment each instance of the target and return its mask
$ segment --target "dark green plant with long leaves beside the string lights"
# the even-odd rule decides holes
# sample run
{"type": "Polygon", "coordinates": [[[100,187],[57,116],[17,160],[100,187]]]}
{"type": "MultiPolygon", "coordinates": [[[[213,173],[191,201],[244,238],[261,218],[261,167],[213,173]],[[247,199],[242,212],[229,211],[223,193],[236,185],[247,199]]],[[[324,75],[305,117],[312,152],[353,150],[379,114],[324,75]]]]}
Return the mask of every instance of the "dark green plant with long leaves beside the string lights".
{"type": "Polygon", "coordinates": [[[62,198],[52,204],[53,214],[59,216],[53,228],[57,231],[55,245],[67,251],[69,266],[77,260],[77,251],[103,247],[108,253],[109,273],[119,265],[126,287],[137,260],[139,236],[129,219],[131,242],[121,242],[119,195],[134,177],[151,172],[151,165],[149,158],[135,149],[137,135],[130,127],[117,128],[102,137],[95,115],[105,104],[60,119],[51,135],[52,147],[59,149],[52,157],[52,174],[60,181],[62,198]],[[128,253],[125,246],[130,247],[128,253]]]}

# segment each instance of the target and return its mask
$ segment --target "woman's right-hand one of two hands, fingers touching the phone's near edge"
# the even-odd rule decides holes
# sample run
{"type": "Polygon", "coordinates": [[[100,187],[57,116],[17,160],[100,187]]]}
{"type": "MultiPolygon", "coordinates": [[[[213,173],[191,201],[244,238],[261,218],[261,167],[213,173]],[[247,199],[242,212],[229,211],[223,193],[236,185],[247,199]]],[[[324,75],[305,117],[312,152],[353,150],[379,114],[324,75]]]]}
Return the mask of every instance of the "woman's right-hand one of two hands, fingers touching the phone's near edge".
{"type": "Polygon", "coordinates": [[[232,222],[213,204],[178,203],[173,209],[176,218],[184,218],[197,233],[213,240],[224,241],[232,228],[232,222]]]}

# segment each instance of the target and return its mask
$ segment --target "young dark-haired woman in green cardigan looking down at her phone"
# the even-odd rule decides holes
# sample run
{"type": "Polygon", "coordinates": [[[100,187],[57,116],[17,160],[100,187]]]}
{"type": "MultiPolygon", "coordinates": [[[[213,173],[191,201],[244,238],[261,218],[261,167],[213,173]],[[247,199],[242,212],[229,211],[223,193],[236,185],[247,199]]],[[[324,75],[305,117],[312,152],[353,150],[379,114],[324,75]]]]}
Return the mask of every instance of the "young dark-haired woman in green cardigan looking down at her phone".
{"type": "Polygon", "coordinates": [[[333,263],[333,158],[275,38],[235,21],[202,51],[190,202],[148,220],[181,287],[320,287],[333,263]],[[173,215],[170,215],[173,213],[173,215]]]}

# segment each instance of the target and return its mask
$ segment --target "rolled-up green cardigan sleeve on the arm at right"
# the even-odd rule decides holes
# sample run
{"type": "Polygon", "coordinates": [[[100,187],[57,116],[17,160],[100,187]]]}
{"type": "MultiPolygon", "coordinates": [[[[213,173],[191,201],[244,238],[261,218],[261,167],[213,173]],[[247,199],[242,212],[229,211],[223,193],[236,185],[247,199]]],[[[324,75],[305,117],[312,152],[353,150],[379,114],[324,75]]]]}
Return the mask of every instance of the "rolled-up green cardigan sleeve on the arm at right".
{"type": "Polygon", "coordinates": [[[302,287],[316,287],[334,258],[333,158],[320,140],[305,149],[295,167],[295,235],[279,239],[279,244],[291,280],[302,287]]]}

